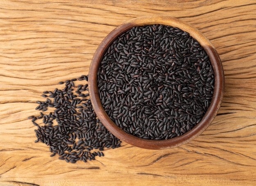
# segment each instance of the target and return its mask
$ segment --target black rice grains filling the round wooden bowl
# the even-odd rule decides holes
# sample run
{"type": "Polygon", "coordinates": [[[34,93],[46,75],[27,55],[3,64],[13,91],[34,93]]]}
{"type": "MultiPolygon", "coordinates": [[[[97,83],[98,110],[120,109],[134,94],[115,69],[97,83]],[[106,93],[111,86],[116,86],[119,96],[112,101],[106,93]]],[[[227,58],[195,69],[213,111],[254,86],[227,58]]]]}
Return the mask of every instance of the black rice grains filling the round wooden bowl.
{"type": "Polygon", "coordinates": [[[103,107],[124,131],[144,139],[180,136],[202,120],[214,73],[197,40],[161,24],[133,27],[104,54],[98,71],[103,107]]]}

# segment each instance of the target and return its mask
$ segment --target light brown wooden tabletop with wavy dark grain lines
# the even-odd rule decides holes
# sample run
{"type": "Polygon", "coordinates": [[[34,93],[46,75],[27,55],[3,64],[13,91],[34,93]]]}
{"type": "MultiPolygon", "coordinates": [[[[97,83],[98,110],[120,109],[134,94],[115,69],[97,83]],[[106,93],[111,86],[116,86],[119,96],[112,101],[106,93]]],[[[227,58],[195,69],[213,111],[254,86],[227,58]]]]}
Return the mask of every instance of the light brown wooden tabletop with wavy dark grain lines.
{"type": "Polygon", "coordinates": [[[0,186],[256,185],[255,0],[1,0],[0,186]],[[143,15],[171,15],[216,47],[225,95],[211,126],[183,146],[122,143],[105,157],[66,163],[36,140],[41,93],[87,75],[103,38],[143,15]]]}

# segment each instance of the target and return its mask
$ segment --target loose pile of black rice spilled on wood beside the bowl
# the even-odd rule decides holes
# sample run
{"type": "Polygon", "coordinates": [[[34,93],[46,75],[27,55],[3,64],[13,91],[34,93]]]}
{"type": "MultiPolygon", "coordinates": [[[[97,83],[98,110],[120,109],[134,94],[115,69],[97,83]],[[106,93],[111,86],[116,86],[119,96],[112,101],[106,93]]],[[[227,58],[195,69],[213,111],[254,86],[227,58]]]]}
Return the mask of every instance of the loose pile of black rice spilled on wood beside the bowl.
{"type": "Polygon", "coordinates": [[[28,117],[37,126],[35,142],[45,143],[52,153],[50,156],[58,154],[59,159],[70,163],[95,160],[95,156],[104,156],[100,151],[117,148],[121,143],[97,119],[89,98],[88,84],[76,86],[76,80],[88,81],[88,76],[60,82],[65,83],[63,89],[44,91],[43,97],[49,98],[36,102],[40,115],[28,117]],[[45,113],[47,109],[52,112],[45,113]]]}

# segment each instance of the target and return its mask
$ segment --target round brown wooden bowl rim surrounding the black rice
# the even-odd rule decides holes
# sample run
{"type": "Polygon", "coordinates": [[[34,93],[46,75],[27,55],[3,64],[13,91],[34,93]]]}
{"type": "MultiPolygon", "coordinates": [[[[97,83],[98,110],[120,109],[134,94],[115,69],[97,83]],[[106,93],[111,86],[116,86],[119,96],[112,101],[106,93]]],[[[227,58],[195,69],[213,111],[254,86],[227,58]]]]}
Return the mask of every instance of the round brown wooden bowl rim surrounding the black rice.
{"type": "Polygon", "coordinates": [[[121,24],[119,27],[111,31],[106,38],[103,39],[99,47],[97,48],[90,65],[89,70],[89,93],[90,99],[92,102],[92,106],[94,108],[95,113],[99,117],[100,121],[106,128],[120,140],[127,142],[128,144],[147,148],[147,149],[166,149],[172,148],[176,146],[180,146],[193,140],[195,137],[200,135],[213,121],[216,117],[218,110],[220,109],[220,104],[222,102],[223,92],[224,92],[224,72],[222,68],[222,64],[219,58],[219,55],[216,49],[213,47],[211,42],[198,30],[193,26],[178,20],[176,18],[172,18],[169,16],[145,16],[140,18],[132,19],[124,24],[121,24]],[[196,124],[190,131],[178,136],[173,137],[168,140],[147,140],[136,137],[134,135],[126,133],[124,130],[119,128],[108,116],[108,114],[104,111],[103,106],[101,104],[101,100],[99,98],[98,92],[98,84],[97,84],[97,72],[99,66],[101,64],[101,60],[103,59],[103,55],[108,49],[108,47],[112,44],[112,42],[119,37],[122,33],[130,30],[132,27],[150,25],[150,24],[164,24],[172,27],[177,27],[183,31],[190,33],[190,35],[195,38],[204,50],[209,55],[210,62],[213,66],[215,84],[213,89],[213,97],[211,100],[211,104],[202,118],[201,122],[196,124]]]}

